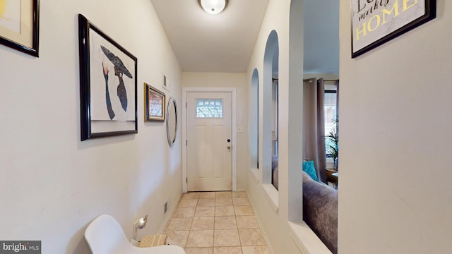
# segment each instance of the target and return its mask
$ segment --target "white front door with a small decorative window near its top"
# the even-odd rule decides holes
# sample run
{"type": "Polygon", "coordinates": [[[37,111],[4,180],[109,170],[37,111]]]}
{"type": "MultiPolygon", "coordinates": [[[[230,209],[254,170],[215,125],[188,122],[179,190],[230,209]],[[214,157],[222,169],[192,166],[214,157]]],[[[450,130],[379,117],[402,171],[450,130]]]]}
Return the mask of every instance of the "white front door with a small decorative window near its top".
{"type": "Polygon", "coordinates": [[[187,190],[232,191],[232,93],[187,92],[187,190]]]}

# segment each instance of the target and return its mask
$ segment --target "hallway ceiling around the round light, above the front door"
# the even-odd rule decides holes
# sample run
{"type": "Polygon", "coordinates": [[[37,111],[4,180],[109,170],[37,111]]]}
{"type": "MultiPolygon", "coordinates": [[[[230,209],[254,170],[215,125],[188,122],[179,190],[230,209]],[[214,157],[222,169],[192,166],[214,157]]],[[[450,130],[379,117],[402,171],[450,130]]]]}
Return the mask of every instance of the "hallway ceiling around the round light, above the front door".
{"type": "Polygon", "coordinates": [[[198,0],[151,0],[182,71],[244,73],[268,0],[230,0],[218,15],[198,0]]]}

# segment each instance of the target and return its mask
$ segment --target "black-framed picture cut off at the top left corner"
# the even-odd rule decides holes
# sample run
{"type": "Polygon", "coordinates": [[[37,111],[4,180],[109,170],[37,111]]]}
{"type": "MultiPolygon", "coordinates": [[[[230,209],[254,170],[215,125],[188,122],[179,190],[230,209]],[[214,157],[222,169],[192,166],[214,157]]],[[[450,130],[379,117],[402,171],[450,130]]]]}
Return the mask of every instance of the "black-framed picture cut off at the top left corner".
{"type": "Polygon", "coordinates": [[[0,43],[39,56],[39,0],[0,1],[0,43]]]}

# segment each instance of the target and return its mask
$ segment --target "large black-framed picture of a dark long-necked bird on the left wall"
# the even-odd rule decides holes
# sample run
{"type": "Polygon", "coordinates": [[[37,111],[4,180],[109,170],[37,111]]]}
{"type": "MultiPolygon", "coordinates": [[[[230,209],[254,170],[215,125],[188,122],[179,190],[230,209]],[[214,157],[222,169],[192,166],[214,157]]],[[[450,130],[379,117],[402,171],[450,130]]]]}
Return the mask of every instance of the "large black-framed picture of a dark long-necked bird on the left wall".
{"type": "Polygon", "coordinates": [[[82,14],[78,37],[81,140],[138,133],[138,60],[82,14]]]}

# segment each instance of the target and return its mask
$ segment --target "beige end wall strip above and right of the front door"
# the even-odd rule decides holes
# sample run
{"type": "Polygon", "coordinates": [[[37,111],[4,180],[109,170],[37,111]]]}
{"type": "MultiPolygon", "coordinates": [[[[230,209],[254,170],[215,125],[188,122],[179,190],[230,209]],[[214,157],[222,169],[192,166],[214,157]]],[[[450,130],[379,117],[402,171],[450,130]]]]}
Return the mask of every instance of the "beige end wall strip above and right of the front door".
{"type": "Polygon", "coordinates": [[[182,87],[237,88],[237,126],[244,127],[243,133],[237,133],[237,191],[246,189],[246,170],[249,168],[246,84],[245,73],[182,73],[182,87]]]}

